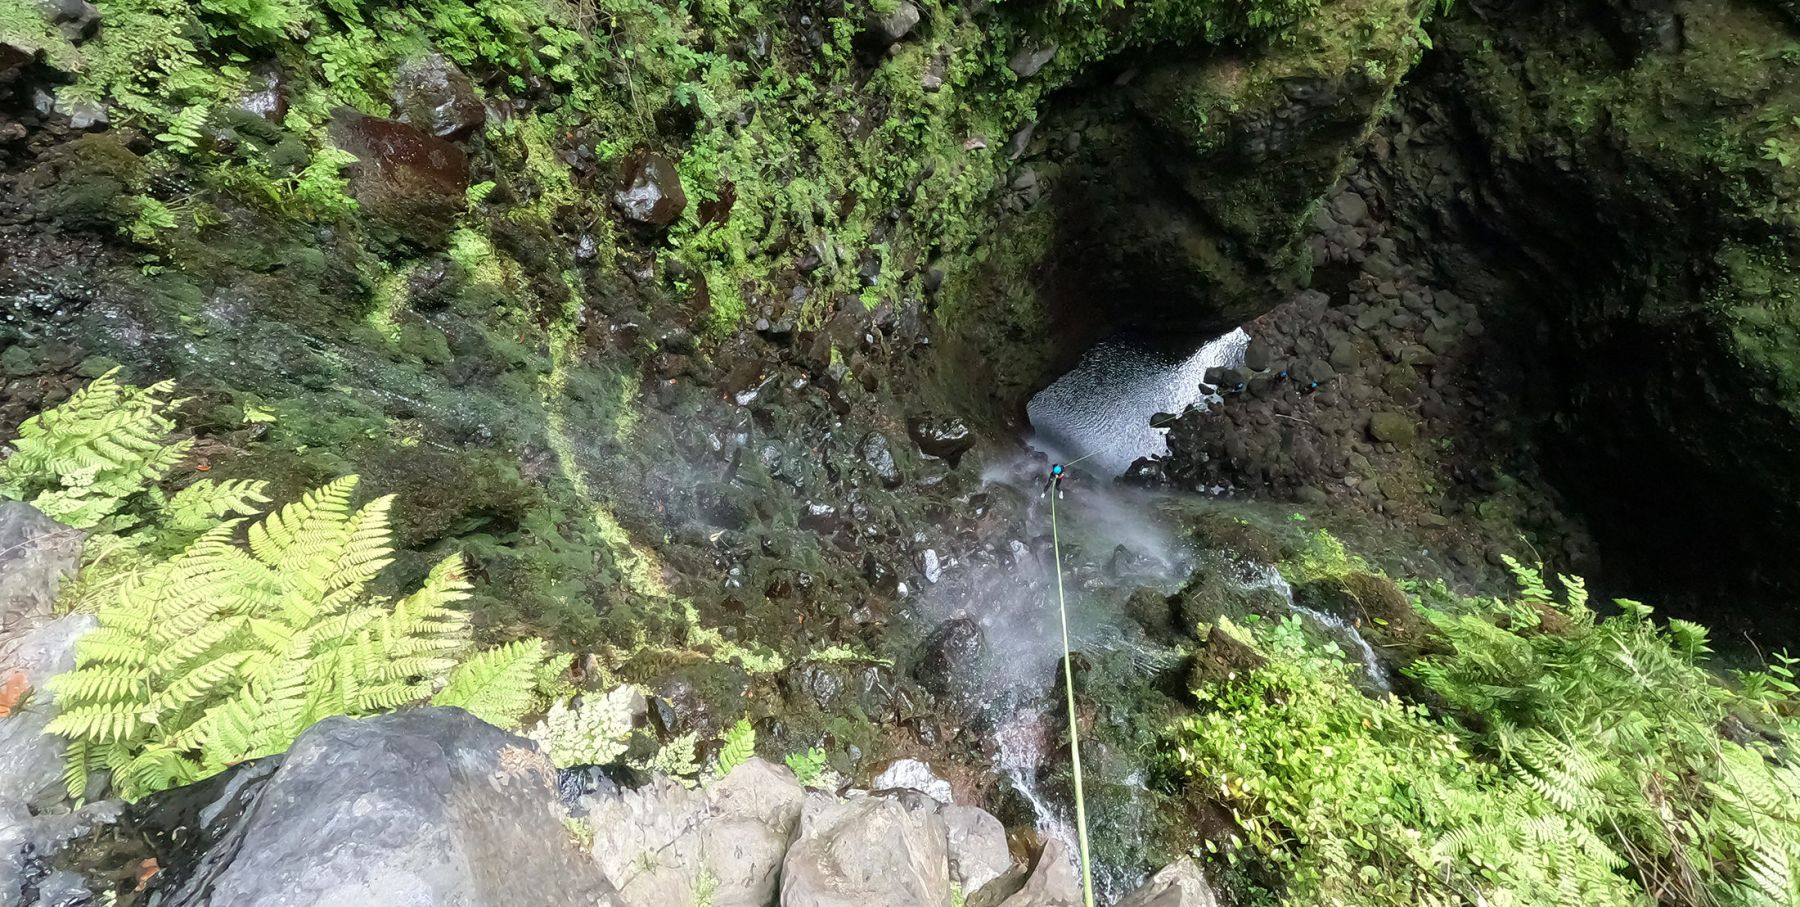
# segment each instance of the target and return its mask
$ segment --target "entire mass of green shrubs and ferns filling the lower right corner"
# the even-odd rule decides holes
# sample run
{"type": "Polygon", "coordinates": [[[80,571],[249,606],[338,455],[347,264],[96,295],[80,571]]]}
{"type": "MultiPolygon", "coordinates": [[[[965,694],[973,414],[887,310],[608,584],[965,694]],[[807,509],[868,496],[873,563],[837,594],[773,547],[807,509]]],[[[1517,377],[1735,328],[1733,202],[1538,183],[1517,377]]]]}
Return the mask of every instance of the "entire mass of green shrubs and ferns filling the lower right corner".
{"type": "Polygon", "coordinates": [[[1408,669],[1420,702],[1364,695],[1294,619],[1210,628],[1258,659],[1166,740],[1233,817],[1208,848],[1271,903],[1791,903],[1791,662],[1728,682],[1697,624],[1514,569],[1510,599],[1420,606],[1445,651],[1408,669]]]}

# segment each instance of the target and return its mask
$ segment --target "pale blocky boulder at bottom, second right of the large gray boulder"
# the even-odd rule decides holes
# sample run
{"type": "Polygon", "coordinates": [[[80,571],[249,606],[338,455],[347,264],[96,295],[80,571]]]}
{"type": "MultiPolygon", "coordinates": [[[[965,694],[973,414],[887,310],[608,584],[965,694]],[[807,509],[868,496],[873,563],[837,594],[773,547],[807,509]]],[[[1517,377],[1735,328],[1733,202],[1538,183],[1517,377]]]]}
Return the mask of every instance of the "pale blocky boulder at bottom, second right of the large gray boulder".
{"type": "Polygon", "coordinates": [[[781,864],[781,907],[949,907],[949,831],[900,799],[808,794],[781,864]]]}

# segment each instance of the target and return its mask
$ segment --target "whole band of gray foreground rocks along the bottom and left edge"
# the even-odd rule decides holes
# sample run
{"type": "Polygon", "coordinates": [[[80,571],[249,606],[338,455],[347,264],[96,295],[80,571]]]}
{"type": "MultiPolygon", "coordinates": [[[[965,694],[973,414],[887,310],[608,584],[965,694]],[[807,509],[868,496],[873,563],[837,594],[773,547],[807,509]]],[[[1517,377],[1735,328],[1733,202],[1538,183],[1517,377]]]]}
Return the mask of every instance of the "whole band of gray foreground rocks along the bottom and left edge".
{"type": "MultiPolygon", "coordinates": [[[[0,509],[0,675],[40,687],[92,619],[52,617],[74,534],[0,509]]],[[[634,714],[648,727],[650,700],[634,714]]],[[[700,786],[623,767],[556,770],[536,743],[459,709],[329,718],[283,756],[135,804],[72,803],[47,695],[0,723],[0,898],[92,903],[1080,903],[1055,839],[1010,839],[925,763],[869,788],[808,790],[749,759],[700,786]],[[958,894],[952,894],[958,893],[958,894]],[[958,900],[959,898],[959,900],[958,900]]],[[[1192,862],[1125,905],[1213,905],[1192,862]]]]}

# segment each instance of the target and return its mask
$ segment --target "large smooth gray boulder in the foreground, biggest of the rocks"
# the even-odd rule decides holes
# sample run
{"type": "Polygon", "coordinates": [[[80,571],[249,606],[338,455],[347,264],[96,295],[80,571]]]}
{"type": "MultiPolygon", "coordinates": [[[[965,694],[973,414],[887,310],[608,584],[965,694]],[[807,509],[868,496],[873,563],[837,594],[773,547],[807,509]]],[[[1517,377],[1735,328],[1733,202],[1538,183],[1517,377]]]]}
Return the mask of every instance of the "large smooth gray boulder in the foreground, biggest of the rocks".
{"type": "Polygon", "coordinates": [[[549,759],[461,709],[319,722],[164,903],[619,905],[549,759]]]}

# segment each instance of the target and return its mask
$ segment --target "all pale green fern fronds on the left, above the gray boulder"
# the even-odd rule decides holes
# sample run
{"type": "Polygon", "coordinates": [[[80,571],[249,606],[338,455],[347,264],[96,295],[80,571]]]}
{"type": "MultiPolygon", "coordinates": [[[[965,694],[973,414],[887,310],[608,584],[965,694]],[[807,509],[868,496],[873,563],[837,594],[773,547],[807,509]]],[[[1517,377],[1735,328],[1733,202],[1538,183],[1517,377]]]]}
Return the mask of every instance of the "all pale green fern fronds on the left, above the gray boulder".
{"type": "Polygon", "coordinates": [[[409,596],[371,590],[392,563],[391,497],[353,509],[346,477],[245,524],[261,482],[164,493],[193,445],[169,443],[169,391],[108,373],[25,423],[0,464],[5,497],[94,529],[104,554],[137,552],[90,596],[99,628],[50,682],[74,795],[90,770],[128,799],[184,785],[281,752],[331,714],[430,698],[509,725],[538,707],[569,659],[536,639],[473,651],[452,608],[468,597],[459,556],[409,596]]]}

